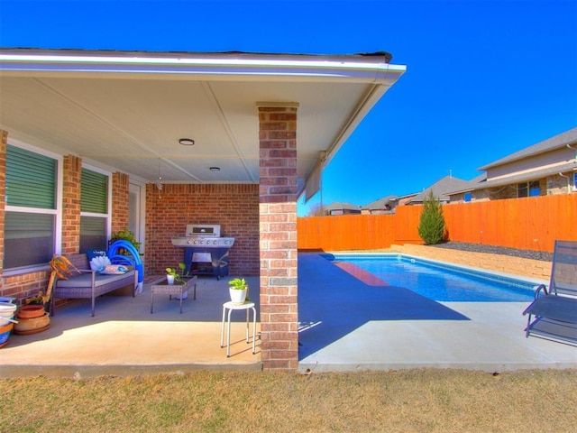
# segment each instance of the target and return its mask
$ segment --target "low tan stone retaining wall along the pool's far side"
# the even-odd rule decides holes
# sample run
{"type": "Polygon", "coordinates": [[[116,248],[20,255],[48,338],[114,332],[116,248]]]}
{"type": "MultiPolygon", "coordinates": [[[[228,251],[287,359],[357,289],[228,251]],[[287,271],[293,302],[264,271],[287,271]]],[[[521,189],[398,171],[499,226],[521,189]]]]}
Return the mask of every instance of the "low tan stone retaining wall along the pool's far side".
{"type": "Polygon", "coordinates": [[[473,253],[470,251],[435,248],[426,245],[391,245],[393,251],[416,255],[442,262],[464,264],[475,268],[489,269],[496,272],[505,272],[522,277],[536,278],[548,281],[551,277],[551,262],[524,259],[502,254],[473,253]]]}

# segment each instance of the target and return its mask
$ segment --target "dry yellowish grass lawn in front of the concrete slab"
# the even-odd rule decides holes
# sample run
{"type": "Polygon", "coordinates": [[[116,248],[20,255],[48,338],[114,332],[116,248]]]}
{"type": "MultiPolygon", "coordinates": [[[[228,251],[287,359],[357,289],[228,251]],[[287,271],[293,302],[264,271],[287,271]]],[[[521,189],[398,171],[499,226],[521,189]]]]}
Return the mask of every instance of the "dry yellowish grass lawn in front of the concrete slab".
{"type": "Polygon", "coordinates": [[[577,370],[1,380],[2,432],[572,432],[577,370]]]}

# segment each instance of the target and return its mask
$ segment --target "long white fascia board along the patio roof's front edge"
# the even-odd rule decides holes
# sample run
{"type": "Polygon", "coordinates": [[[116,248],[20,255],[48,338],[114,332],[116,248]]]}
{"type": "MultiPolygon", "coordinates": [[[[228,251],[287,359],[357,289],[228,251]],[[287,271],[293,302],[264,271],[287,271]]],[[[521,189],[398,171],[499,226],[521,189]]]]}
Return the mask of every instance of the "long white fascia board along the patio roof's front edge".
{"type": "Polygon", "coordinates": [[[386,83],[391,76],[402,75],[406,67],[390,65],[383,59],[368,61],[366,58],[343,56],[316,60],[252,56],[110,56],[63,55],[50,53],[12,53],[0,51],[0,73],[66,76],[75,74],[198,76],[211,79],[282,79],[343,80],[345,82],[386,83]]]}

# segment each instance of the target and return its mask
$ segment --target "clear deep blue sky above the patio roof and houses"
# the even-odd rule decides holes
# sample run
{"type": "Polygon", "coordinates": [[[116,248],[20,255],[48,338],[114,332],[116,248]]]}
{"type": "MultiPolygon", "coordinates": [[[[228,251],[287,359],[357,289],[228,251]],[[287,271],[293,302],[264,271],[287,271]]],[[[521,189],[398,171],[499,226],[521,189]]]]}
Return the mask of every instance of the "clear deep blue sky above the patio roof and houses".
{"type": "Polygon", "coordinates": [[[0,46],[353,54],[407,72],[325,168],[322,202],[418,192],[577,126],[577,0],[0,0],[0,46]]]}

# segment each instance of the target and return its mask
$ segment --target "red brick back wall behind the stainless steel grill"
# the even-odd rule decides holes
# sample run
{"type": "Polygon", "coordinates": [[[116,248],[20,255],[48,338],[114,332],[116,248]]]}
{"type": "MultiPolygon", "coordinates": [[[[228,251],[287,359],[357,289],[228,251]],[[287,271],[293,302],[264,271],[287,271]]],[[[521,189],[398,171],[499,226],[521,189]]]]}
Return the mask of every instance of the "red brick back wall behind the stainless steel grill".
{"type": "Polygon", "coordinates": [[[188,224],[220,224],[234,237],[230,275],[259,274],[259,186],[253,184],[146,186],[144,270],[161,274],[183,261],[184,249],[171,239],[185,235],[188,224]]]}

